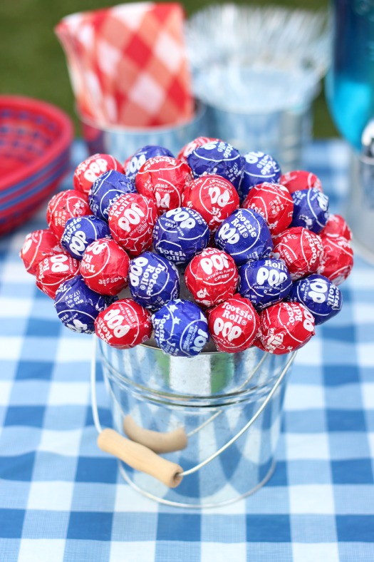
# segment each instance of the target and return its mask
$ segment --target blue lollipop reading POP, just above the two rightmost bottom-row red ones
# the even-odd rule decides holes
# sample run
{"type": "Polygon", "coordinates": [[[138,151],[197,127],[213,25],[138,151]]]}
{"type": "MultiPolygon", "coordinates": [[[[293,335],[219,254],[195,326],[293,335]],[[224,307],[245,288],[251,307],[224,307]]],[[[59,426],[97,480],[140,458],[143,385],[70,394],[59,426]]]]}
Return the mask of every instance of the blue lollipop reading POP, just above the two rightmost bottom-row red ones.
{"type": "Polygon", "coordinates": [[[239,269],[239,293],[257,310],[283,300],[291,287],[291,275],[282,260],[257,260],[239,269]]]}

